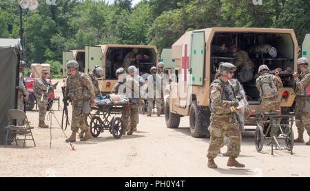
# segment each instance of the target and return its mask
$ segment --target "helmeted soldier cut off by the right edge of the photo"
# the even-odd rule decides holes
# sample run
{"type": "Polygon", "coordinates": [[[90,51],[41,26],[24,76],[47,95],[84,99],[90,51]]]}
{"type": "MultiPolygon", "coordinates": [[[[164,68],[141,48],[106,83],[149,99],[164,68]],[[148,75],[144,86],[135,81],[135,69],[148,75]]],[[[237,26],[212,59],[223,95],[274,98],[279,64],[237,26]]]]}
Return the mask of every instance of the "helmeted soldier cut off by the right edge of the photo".
{"type": "Polygon", "coordinates": [[[295,105],[295,114],[296,127],[298,129],[298,138],[295,139],[296,143],[304,143],[304,129],[307,130],[309,135],[309,141],[306,143],[310,145],[310,112],[302,111],[305,101],[310,101],[310,73],[308,69],[309,61],[305,57],[298,59],[298,68],[301,70],[301,73],[295,73],[295,93],[296,93],[296,105],[295,105]]]}

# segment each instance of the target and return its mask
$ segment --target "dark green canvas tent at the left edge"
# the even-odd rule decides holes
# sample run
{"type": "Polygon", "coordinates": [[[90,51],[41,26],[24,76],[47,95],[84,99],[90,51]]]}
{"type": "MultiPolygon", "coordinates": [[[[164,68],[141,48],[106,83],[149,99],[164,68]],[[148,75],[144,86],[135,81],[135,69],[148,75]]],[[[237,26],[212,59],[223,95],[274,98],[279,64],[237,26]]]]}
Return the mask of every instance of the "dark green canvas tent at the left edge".
{"type": "Polygon", "coordinates": [[[8,46],[3,41],[0,43],[0,144],[4,144],[6,140],[8,110],[17,108],[19,50],[19,43],[8,46]]]}

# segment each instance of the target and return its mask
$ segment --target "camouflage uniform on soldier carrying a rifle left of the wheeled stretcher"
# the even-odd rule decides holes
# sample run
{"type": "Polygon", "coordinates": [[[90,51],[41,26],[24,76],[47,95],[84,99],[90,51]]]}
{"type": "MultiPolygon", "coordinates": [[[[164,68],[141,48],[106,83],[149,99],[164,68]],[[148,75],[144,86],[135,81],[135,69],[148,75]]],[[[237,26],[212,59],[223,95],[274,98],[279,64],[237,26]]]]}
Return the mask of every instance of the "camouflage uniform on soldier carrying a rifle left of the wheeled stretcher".
{"type": "Polygon", "coordinates": [[[88,132],[85,123],[85,114],[83,113],[83,101],[94,101],[94,88],[91,79],[87,74],[78,72],[76,75],[71,74],[67,77],[67,88],[65,94],[69,97],[72,105],[72,132],[88,132]]]}

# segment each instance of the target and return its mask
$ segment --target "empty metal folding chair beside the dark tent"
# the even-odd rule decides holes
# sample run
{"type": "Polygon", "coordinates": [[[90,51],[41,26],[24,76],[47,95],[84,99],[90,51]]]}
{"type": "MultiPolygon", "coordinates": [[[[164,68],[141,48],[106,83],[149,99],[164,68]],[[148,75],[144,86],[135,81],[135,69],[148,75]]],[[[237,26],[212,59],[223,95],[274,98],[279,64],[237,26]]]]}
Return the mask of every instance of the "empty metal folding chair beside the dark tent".
{"type": "Polygon", "coordinates": [[[34,142],[34,138],[32,135],[32,127],[29,125],[29,121],[27,118],[27,115],[22,110],[9,110],[8,111],[8,126],[6,126],[6,145],[8,141],[15,141],[15,143],[18,145],[18,140],[23,140],[23,148],[25,148],[25,141],[26,140],[32,140],[34,143],[34,146],[36,146],[36,143],[34,142]],[[21,120],[25,121],[24,125],[14,125],[14,120],[21,120]],[[12,134],[12,139],[9,139],[9,134],[12,134]],[[23,139],[18,139],[18,135],[23,135],[23,139]],[[31,136],[32,139],[26,139],[27,136],[31,136]]]}

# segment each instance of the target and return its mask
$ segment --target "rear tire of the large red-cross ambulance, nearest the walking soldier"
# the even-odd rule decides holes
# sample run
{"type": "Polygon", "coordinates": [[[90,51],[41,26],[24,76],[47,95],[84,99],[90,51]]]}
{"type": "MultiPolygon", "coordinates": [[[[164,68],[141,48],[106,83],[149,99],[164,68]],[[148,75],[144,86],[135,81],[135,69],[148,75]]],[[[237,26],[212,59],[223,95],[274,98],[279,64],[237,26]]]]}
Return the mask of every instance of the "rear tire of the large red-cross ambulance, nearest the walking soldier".
{"type": "Polygon", "coordinates": [[[207,130],[210,123],[209,118],[209,108],[202,108],[198,106],[197,101],[193,101],[189,109],[189,129],[192,137],[209,137],[209,130],[207,130]]]}

